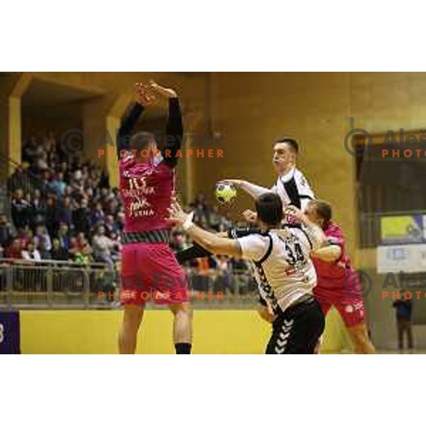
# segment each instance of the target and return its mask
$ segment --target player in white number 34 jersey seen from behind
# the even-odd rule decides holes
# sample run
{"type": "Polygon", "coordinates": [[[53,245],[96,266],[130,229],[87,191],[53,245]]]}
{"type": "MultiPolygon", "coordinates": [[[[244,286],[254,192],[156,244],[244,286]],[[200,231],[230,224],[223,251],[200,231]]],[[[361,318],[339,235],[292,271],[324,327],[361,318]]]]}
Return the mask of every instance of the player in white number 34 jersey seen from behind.
{"type": "Polygon", "coordinates": [[[256,198],[256,214],[260,231],[238,239],[204,231],[179,204],[170,209],[170,220],[207,251],[253,263],[259,293],[271,310],[267,354],[313,354],[324,315],[313,296],[317,275],[310,254],[325,243],[324,233],[294,206],[285,214],[300,225],[282,226],[283,202],[273,192],[256,198]]]}

